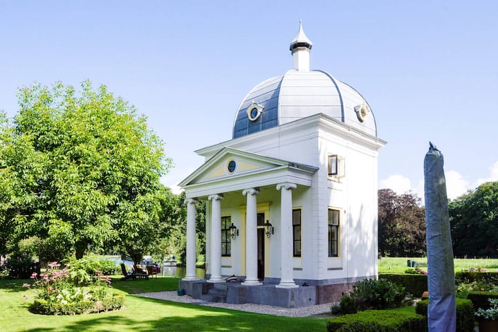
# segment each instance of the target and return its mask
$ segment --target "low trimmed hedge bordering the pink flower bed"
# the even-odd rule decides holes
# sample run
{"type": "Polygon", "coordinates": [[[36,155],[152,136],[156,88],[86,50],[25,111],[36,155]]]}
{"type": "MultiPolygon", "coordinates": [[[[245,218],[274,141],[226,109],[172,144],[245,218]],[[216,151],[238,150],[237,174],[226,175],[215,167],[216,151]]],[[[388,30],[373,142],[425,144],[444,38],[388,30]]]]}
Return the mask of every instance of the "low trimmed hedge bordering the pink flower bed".
{"type": "Polygon", "coordinates": [[[30,307],[30,311],[43,315],[80,315],[82,313],[99,313],[100,311],[117,310],[121,308],[123,304],[124,295],[122,294],[115,294],[97,302],[80,301],[68,304],[48,302],[45,299],[35,299],[35,302],[30,307]]]}

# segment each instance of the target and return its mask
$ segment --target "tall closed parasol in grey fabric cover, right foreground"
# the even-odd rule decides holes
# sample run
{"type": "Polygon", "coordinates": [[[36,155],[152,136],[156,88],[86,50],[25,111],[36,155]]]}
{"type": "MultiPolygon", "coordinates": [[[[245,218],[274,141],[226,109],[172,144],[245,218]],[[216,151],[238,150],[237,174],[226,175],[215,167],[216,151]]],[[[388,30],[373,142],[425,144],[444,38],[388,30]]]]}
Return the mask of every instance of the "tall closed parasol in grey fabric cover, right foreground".
{"type": "Polygon", "coordinates": [[[429,277],[429,331],[457,329],[454,296],[453,248],[448,215],[448,196],[443,171],[443,154],[430,143],[424,159],[425,222],[429,277]]]}

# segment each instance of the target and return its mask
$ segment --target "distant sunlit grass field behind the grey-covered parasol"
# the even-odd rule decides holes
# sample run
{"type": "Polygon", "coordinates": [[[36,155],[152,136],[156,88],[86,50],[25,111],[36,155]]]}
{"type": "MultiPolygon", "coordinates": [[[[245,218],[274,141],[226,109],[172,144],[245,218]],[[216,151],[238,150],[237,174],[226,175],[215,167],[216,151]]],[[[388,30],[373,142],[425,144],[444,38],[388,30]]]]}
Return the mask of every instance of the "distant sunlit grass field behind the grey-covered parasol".
{"type": "MultiPolygon", "coordinates": [[[[427,257],[410,258],[410,257],[382,257],[378,260],[379,273],[404,273],[408,268],[407,260],[427,263],[427,257]]],[[[495,271],[498,268],[498,259],[454,259],[454,270],[459,272],[468,268],[487,268],[489,271],[495,271]]],[[[422,268],[427,270],[426,267],[422,268]]]]}

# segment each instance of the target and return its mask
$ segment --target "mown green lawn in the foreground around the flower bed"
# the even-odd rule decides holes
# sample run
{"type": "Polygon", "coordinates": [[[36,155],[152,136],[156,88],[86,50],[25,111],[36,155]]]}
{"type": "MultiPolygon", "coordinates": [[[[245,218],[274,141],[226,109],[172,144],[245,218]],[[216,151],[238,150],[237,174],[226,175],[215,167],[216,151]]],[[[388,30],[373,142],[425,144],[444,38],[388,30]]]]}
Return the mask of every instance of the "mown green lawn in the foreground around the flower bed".
{"type": "Polygon", "coordinates": [[[35,315],[28,311],[33,293],[21,286],[23,282],[27,281],[0,280],[1,331],[326,331],[323,318],[260,315],[133,295],[176,290],[178,279],[170,277],[127,282],[113,279],[117,292],[128,293],[125,307],[119,311],[74,316],[35,315]]]}

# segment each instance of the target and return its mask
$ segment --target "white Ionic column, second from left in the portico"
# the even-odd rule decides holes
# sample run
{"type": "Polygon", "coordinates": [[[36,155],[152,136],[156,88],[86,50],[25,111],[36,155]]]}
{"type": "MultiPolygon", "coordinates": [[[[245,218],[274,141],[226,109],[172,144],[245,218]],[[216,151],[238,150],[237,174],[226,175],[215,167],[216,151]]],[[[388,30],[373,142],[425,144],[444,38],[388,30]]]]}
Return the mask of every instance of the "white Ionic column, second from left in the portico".
{"type": "Polygon", "coordinates": [[[208,196],[211,201],[211,277],[208,282],[223,282],[221,277],[221,200],[222,195],[208,196]]]}

